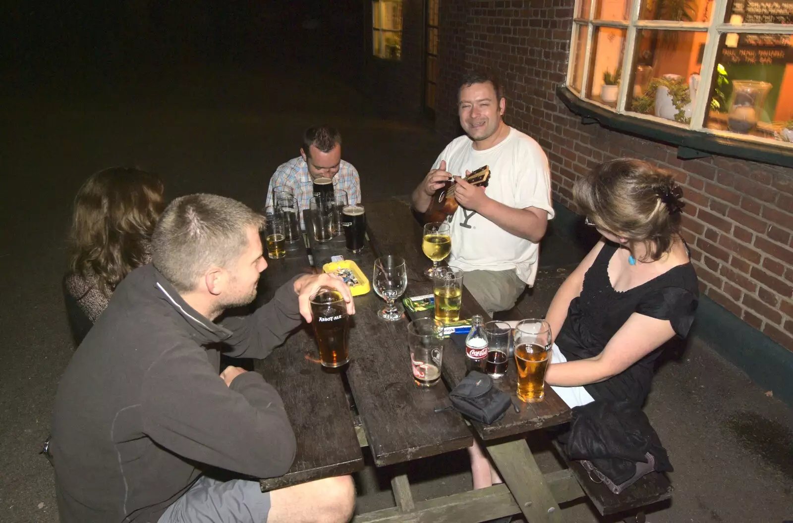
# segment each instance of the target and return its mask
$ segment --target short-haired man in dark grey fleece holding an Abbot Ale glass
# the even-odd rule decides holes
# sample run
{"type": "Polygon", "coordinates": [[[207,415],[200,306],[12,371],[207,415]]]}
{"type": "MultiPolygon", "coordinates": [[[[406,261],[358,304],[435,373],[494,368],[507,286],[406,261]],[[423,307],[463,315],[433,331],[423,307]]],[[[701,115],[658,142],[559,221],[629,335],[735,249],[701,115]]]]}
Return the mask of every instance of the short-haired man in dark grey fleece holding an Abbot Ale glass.
{"type": "Polygon", "coordinates": [[[304,275],[252,315],[213,323],[251,303],[266,268],[263,218],[235,200],[174,200],[152,239],[153,263],[132,271],[60,380],[52,420],[60,519],[91,521],[347,521],[349,476],[261,493],[239,476],[283,475],[296,442],[278,392],[257,372],[220,372],[230,356],[266,357],[311,322],[308,296],[343,293],[339,278],[304,275]]]}

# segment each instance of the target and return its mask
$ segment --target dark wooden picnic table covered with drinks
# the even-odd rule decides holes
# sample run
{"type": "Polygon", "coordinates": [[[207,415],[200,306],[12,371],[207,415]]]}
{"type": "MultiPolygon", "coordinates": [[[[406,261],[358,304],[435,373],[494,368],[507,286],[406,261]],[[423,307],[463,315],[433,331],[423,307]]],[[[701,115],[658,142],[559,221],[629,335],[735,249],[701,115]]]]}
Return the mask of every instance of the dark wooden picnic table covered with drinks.
{"type": "MultiPolygon", "coordinates": [[[[331,255],[341,254],[354,260],[371,280],[377,256],[395,254],[405,258],[408,265],[405,296],[431,293],[431,282],[423,275],[430,261],[421,252],[421,227],[413,220],[408,204],[388,200],[364,207],[369,242],[361,254],[354,256],[344,248],[343,236],[321,244],[313,242],[310,220],[306,220],[308,246],[316,268],[321,270],[331,255]]],[[[304,249],[293,248],[286,258],[268,260],[268,264],[262,275],[265,296],[295,274],[308,270],[308,257],[304,249]]],[[[308,326],[257,364],[257,370],[282,395],[298,441],[289,473],[263,479],[262,489],[361,470],[364,446],[369,447],[375,465],[382,467],[463,449],[477,437],[487,447],[504,485],[414,502],[407,475],[397,473],[391,479],[397,506],[360,514],[353,521],[473,523],[513,513],[523,513],[531,523],[561,521],[558,503],[580,497],[580,487],[568,470],[543,475],[524,439],[532,430],[569,420],[569,408],[555,392],[548,387],[544,401],[520,403],[519,413],[510,409],[490,426],[469,424],[454,410],[435,412],[436,407],[450,405],[447,387],[454,387],[465,376],[465,351],[447,340],[442,365],[445,384],[416,387],[408,353],[408,320],[379,319],[377,310],[385,302],[374,290],[354,300],[351,361],[346,369],[329,371],[321,367],[308,326]],[[357,432],[352,408],[360,418],[357,432]]],[[[481,314],[488,319],[465,289],[462,303],[462,317],[481,314]]],[[[508,375],[496,381],[497,387],[513,397],[514,367],[511,365],[508,375]]]]}

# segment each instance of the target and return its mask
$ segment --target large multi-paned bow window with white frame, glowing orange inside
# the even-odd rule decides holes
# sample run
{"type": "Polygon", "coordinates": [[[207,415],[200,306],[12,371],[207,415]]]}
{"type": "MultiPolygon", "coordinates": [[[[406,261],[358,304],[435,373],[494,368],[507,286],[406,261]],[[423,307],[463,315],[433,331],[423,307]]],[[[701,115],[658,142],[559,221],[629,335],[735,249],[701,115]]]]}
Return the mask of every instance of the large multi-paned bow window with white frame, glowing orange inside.
{"type": "Polygon", "coordinates": [[[793,147],[793,0],[577,0],[567,86],[626,116],[793,147]]]}

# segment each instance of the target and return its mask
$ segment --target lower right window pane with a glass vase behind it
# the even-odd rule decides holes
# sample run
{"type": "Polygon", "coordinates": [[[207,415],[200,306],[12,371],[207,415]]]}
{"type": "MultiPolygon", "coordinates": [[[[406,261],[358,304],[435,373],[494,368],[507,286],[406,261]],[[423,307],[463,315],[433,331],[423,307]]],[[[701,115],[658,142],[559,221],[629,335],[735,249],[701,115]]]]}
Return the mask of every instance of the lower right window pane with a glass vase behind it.
{"type": "Polygon", "coordinates": [[[793,36],[726,34],[718,47],[706,127],[793,138],[783,131],[793,118],[793,36]]]}

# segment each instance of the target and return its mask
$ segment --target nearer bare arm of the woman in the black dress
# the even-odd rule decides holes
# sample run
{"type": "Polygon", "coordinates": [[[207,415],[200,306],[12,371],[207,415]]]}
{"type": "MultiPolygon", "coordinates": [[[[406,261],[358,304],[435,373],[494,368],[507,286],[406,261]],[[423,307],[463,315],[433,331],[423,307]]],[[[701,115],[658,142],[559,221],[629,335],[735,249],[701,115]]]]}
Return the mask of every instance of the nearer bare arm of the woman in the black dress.
{"type": "Polygon", "coordinates": [[[585,360],[548,366],[546,382],[562,387],[594,384],[607,380],[634,365],[675,335],[667,319],[634,314],[619,328],[603,352],[585,360]]]}

